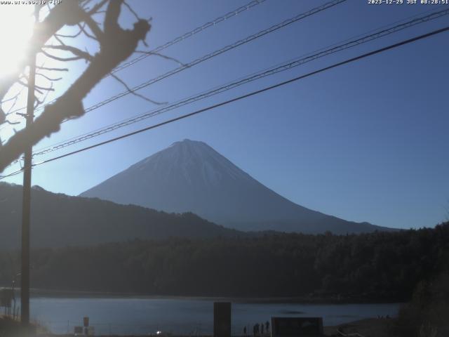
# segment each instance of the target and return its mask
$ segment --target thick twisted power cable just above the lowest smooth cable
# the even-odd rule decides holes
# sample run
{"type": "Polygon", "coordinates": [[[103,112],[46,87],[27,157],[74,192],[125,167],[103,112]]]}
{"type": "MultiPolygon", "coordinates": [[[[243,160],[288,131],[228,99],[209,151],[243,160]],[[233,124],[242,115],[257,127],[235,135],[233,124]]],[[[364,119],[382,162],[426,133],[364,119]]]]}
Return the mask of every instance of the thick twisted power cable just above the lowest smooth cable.
{"type": "MultiPolygon", "coordinates": [[[[189,98],[185,98],[182,100],[179,100],[175,103],[172,103],[171,105],[168,105],[166,107],[161,107],[159,109],[156,110],[151,110],[149,112],[146,112],[144,114],[140,114],[136,117],[132,117],[130,119],[125,119],[123,121],[120,121],[119,123],[115,123],[115,124],[111,124],[109,126],[106,126],[104,128],[99,128],[95,131],[92,131],[91,133],[85,133],[81,136],[76,136],[74,138],[70,138],[69,140],[64,140],[60,143],[55,143],[53,145],[49,145],[48,147],[42,147],[40,150],[37,150],[36,152],[34,152],[34,156],[38,156],[41,154],[47,154],[48,152],[53,152],[55,150],[60,150],[64,147],[67,147],[69,145],[74,145],[76,143],[79,143],[83,140],[88,140],[90,138],[94,138],[97,136],[100,136],[104,133],[108,133],[111,131],[114,131],[118,128],[124,127],[124,126],[128,126],[130,124],[134,124],[137,123],[138,121],[142,121],[144,119],[147,119],[149,117],[154,117],[157,114],[162,114],[163,112],[168,112],[170,110],[174,110],[178,107],[181,107],[183,105],[187,105],[187,104],[191,104],[194,103],[198,100],[202,100],[204,98],[208,98],[212,95],[217,95],[218,93],[222,93],[225,91],[228,91],[232,88],[236,88],[237,86],[241,86],[243,84],[247,84],[250,81],[255,81],[257,79],[261,79],[263,77],[267,77],[270,76],[272,74],[276,74],[278,72],[283,72],[286,70],[290,70],[293,67],[297,67],[299,65],[303,65],[306,62],[310,62],[311,60],[316,60],[317,58],[322,58],[323,56],[326,55],[330,55],[331,53],[336,53],[338,51],[343,51],[347,48],[352,48],[354,46],[358,46],[359,44],[364,44],[368,41],[373,41],[375,39],[379,39],[380,37],[384,37],[387,36],[389,34],[393,34],[394,32],[398,32],[402,29],[406,29],[408,27],[413,27],[414,25],[418,25],[422,22],[427,22],[429,20],[434,20],[436,18],[440,18],[443,15],[448,15],[449,14],[449,9],[444,10],[444,11],[438,11],[436,13],[431,13],[429,15],[425,15],[421,18],[416,18],[414,20],[410,20],[408,22],[404,22],[400,25],[396,25],[394,27],[390,27],[387,29],[382,29],[379,32],[375,32],[373,34],[368,34],[365,36],[362,36],[358,39],[352,40],[352,41],[348,41],[344,44],[340,44],[340,45],[333,45],[331,48],[328,49],[320,49],[318,53],[314,53],[311,55],[308,55],[307,57],[300,57],[300,58],[296,58],[293,60],[290,60],[286,63],[283,63],[279,66],[276,67],[271,67],[268,70],[262,70],[261,72],[256,72],[254,74],[251,74],[248,77],[243,77],[243,79],[239,79],[237,81],[233,81],[230,82],[228,84],[225,84],[223,86],[219,86],[219,87],[215,87],[209,91],[200,93],[199,95],[194,95],[194,96],[190,96],[189,98]]],[[[347,41],[347,40],[346,40],[347,41]]]]}

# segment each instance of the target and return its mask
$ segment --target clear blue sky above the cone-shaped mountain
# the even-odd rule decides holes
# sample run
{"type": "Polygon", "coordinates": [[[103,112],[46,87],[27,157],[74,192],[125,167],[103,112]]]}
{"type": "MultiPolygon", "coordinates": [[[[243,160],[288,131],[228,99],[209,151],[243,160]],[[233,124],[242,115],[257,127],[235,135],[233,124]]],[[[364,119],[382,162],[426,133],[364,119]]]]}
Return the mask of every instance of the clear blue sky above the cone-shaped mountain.
{"type": "MultiPolygon", "coordinates": [[[[141,16],[153,18],[147,41],[149,48],[154,48],[246,2],[135,0],[130,4],[141,16]]],[[[267,0],[163,53],[189,62],[325,2],[267,0]]],[[[140,93],[154,100],[174,102],[437,8],[435,5],[368,5],[367,1],[349,0],[140,93]]],[[[123,25],[131,25],[132,20],[123,11],[123,25]]],[[[445,27],[448,23],[449,17],[445,16],[406,29],[35,161],[192,112],[445,27]]],[[[171,143],[190,138],[208,143],[267,187],[310,209],[390,227],[436,225],[449,217],[448,41],[449,34],[443,33],[196,117],[38,166],[33,171],[33,185],[76,195],[171,143]]],[[[71,76],[74,78],[83,67],[83,62],[74,63],[71,76]]],[[[119,75],[134,86],[174,67],[177,67],[175,62],[149,57],[119,75]]],[[[69,77],[60,90],[69,86],[73,78],[69,77]]],[[[86,98],[85,107],[121,91],[120,84],[105,79],[86,98]]],[[[145,100],[128,95],[81,119],[65,123],[60,133],[34,148],[154,108],[145,100]]],[[[21,179],[15,176],[8,181],[21,183],[21,179]]]]}

